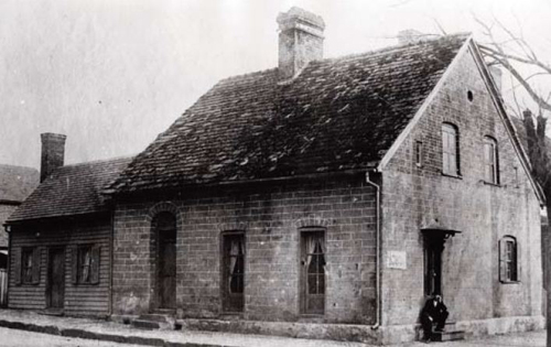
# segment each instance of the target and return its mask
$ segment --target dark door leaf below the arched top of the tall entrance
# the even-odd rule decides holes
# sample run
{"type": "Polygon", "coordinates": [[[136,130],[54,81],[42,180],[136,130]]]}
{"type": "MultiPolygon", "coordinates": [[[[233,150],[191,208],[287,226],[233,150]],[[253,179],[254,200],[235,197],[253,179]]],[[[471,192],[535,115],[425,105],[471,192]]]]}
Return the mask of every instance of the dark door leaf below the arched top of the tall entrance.
{"type": "Polygon", "coordinates": [[[159,230],[159,308],[176,307],[176,229],[159,230]]]}

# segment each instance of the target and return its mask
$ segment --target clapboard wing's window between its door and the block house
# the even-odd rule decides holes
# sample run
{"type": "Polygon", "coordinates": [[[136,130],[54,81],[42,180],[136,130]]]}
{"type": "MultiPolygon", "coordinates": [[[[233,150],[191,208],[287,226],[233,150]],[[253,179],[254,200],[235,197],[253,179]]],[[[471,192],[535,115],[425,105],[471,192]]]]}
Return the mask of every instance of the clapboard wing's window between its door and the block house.
{"type": "Polygon", "coordinates": [[[73,253],[73,283],[99,283],[99,247],[84,245],[74,248],[73,253]],[[76,256],[76,259],[75,259],[76,256]]]}

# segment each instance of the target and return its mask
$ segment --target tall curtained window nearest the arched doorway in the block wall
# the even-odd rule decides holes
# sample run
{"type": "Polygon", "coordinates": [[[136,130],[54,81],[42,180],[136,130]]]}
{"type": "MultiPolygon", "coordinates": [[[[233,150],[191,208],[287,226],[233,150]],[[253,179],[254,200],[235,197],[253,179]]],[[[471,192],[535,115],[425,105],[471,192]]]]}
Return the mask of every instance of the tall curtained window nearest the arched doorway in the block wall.
{"type": "Polygon", "coordinates": [[[245,292],[245,235],[223,235],[223,292],[224,311],[242,312],[245,292]]]}

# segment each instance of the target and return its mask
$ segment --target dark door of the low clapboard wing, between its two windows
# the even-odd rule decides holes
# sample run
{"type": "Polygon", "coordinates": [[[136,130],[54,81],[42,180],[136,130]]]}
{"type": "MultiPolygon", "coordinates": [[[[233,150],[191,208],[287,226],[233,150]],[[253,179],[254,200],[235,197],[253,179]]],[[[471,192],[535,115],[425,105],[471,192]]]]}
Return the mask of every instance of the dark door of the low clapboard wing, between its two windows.
{"type": "Polygon", "coordinates": [[[63,308],[65,301],[65,249],[52,248],[48,252],[47,307],[63,308]]]}

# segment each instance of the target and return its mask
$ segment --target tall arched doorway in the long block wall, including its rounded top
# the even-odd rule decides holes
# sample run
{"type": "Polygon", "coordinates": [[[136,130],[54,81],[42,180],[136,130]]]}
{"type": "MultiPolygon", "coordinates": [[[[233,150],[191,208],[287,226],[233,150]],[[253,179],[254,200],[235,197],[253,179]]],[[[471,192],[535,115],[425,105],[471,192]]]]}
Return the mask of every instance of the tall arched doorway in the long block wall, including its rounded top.
{"type": "Polygon", "coordinates": [[[170,213],[155,217],[158,238],[158,308],[176,307],[176,218],[170,213]]]}

